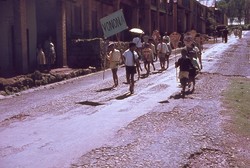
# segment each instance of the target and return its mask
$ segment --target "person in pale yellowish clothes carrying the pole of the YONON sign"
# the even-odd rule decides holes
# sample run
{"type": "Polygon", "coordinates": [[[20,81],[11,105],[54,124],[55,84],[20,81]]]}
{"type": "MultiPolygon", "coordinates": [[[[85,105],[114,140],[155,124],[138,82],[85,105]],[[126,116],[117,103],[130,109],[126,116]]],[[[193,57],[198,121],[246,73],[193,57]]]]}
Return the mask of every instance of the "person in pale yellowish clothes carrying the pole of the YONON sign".
{"type": "Polygon", "coordinates": [[[118,71],[118,66],[121,62],[121,52],[115,48],[114,43],[109,44],[108,51],[109,53],[107,55],[107,59],[109,60],[110,69],[113,75],[113,80],[114,80],[113,87],[117,87],[118,86],[117,71],[118,71]]]}

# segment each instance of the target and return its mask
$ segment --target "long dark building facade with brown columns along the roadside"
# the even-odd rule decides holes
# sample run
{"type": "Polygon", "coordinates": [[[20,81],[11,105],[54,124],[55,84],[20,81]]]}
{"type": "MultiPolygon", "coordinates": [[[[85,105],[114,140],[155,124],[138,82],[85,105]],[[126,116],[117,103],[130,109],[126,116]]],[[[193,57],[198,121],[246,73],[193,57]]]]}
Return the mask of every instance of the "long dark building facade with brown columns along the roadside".
{"type": "Polygon", "coordinates": [[[119,9],[128,29],[110,40],[130,41],[133,27],[147,35],[156,29],[206,33],[208,15],[216,15],[196,0],[0,0],[0,77],[34,71],[37,46],[48,37],[55,44],[56,66],[67,66],[68,41],[102,38],[100,19],[119,9]]]}

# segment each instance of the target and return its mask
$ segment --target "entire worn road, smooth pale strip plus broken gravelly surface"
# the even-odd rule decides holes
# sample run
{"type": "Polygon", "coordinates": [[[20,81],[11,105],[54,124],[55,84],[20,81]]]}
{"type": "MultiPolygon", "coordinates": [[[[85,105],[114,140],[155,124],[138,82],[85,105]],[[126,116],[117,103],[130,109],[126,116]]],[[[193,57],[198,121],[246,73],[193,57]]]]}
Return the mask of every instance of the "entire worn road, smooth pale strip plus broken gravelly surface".
{"type": "Polygon", "coordinates": [[[170,99],[180,91],[177,55],[168,70],[138,80],[133,95],[120,68],[115,90],[107,70],[0,100],[1,167],[185,167],[197,152],[216,167],[236,164],[221,147],[219,98],[227,76],[250,75],[249,36],[206,45],[203,73],[186,99],[170,99]],[[234,61],[239,53],[244,59],[234,61]]]}

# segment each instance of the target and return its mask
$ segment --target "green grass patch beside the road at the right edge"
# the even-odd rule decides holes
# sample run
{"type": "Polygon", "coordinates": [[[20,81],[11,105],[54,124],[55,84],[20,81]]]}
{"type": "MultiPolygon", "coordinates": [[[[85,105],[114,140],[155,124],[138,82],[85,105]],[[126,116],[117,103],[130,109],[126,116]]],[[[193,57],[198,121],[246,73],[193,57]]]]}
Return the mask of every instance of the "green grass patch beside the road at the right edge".
{"type": "Polygon", "coordinates": [[[227,108],[233,110],[236,131],[250,136],[250,79],[232,79],[224,97],[227,108]]]}

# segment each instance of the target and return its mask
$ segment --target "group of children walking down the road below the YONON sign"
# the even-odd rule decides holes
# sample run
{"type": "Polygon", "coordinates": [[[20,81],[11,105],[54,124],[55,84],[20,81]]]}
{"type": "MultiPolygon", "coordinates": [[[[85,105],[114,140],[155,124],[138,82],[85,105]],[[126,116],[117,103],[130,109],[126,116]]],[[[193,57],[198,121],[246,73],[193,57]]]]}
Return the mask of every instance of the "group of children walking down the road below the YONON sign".
{"type": "MultiPolygon", "coordinates": [[[[195,45],[195,41],[191,36],[184,38],[185,47],[181,49],[182,57],[175,63],[176,68],[180,67],[180,82],[182,85],[182,94],[191,81],[195,85],[195,76],[202,68],[201,64],[201,48],[195,45]],[[196,59],[199,59],[199,63],[196,59]],[[189,80],[190,79],[190,80],[189,80]]],[[[107,59],[110,61],[110,68],[113,74],[114,86],[118,86],[117,70],[120,64],[125,64],[126,82],[129,84],[129,91],[134,93],[134,76],[142,71],[141,62],[144,64],[146,76],[150,75],[151,66],[155,70],[154,62],[159,59],[160,71],[164,71],[169,67],[169,57],[172,53],[171,40],[167,33],[163,37],[158,37],[157,42],[153,37],[144,38],[141,42],[140,37],[136,36],[128,46],[128,49],[121,53],[115,48],[114,43],[108,46],[107,59]]]]}

